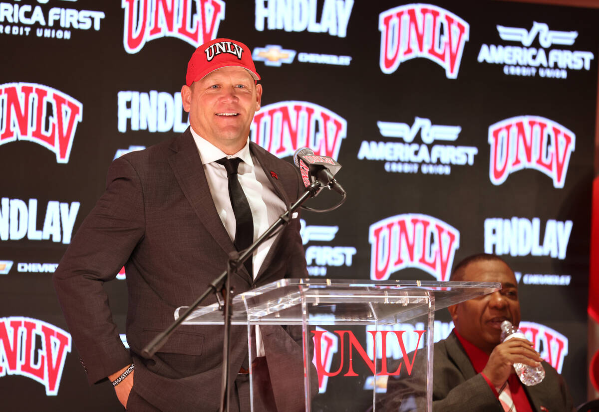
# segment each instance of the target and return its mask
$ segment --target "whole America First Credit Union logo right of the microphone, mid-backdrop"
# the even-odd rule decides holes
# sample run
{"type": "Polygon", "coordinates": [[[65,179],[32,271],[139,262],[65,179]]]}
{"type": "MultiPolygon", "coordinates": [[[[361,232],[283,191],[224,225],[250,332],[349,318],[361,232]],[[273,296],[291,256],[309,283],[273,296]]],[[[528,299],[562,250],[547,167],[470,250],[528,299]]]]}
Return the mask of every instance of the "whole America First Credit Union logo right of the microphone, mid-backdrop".
{"type": "Polygon", "coordinates": [[[377,121],[380,134],[389,138],[400,138],[403,142],[362,141],[358,159],[385,160],[385,170],[397,173],[421,173],[449,175],[452,164],[472,166],[476,147],[428,145],[434,141],[453,142],[458,139],[460,126],[432,124],[431,120],[416,117],[412,126],[407,123],[377,121]],[[420,132],[424,144],[414,143],[420,132]]]}

